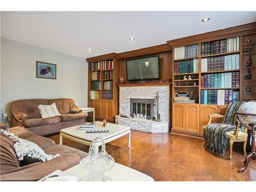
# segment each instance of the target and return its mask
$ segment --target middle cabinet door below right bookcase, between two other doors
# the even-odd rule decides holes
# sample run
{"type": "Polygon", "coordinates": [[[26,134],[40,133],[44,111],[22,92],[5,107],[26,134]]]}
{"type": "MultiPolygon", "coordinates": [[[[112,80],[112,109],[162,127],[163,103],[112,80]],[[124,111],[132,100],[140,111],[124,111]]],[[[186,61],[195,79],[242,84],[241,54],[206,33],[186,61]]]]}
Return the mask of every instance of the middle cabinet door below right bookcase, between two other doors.
{"type": "Polygon", "coordinates": [[[186,104],[185,131],[199,133],[199,104],[186,104]]]}

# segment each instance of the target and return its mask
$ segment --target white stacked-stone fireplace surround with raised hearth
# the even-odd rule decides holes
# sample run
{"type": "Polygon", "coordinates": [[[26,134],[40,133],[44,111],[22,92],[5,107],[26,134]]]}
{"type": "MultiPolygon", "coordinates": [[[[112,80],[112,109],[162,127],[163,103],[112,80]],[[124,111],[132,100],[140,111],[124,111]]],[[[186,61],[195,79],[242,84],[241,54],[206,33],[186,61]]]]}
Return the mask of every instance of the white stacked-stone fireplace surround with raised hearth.
{"type": "Polygon", "coordinates": [[[159,92],[159,113],[161,122],[116,116],[116,123],[130,126],[131,129],[150,132],[167,133],[169,130],[169,85],[119,87],[119,114],[130,116],[130,99],[154,99],[159,92]]]}

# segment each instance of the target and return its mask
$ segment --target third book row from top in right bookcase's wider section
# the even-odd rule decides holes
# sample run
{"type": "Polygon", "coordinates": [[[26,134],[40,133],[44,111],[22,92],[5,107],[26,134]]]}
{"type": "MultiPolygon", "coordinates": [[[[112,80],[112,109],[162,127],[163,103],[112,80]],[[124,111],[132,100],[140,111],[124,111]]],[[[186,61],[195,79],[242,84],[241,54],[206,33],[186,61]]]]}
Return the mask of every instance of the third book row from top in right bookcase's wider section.
{"type": "Polygon", "coordinates": [[[201,88],[239,88],[240,74],[232,73],[215,73],[201,76],[201,88]]]}

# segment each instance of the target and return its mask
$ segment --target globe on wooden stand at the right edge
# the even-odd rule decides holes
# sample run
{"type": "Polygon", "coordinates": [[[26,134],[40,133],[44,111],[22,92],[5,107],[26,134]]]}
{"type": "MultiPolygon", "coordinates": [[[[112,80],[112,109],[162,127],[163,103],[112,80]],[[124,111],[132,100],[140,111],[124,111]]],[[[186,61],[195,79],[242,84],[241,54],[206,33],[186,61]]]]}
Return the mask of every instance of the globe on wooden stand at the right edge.
{"type": "Polygon", "coordinates": [[[241,115],[244,122],[256,124],[256,101],[248,101],[240,106],[238,109],[240,113],[254,114],[254,115],[241,115]]]}

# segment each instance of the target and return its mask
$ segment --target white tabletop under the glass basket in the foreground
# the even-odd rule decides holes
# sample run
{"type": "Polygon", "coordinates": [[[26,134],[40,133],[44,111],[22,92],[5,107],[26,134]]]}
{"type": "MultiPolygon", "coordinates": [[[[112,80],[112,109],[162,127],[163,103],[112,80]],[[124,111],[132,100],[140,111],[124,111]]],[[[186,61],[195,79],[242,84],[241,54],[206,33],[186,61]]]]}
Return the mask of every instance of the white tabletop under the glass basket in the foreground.
{"type": "MultiPolygon", "coordinates": [[[[77,178],[81,178],[88,174],[87,170],[80,164],[65,170],[64,173],[77,178]]],[[[105,175],[110,177],[113,181],[154,181],[152,177],[119,163],[115,163],[112,169],[105,172],[105,175]]]]}

